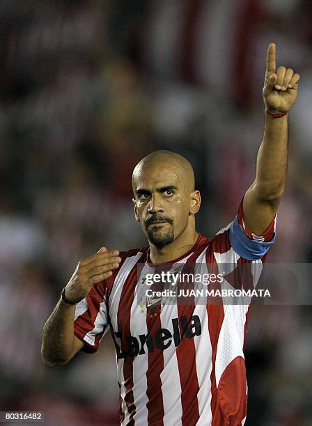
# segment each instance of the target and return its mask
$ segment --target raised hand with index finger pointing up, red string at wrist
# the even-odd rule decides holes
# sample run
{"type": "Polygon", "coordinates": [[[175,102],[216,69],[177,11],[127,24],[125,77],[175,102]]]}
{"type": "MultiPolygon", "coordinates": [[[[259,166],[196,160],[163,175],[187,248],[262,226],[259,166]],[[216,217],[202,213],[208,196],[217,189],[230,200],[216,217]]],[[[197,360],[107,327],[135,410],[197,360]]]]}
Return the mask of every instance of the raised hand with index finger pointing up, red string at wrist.
{"type": "Polygon", "coordinates": [[[263,87],[263,100],[267,111],[285,113],[297,98],[300,76],[291,68],[283,66],[276,71],[276,47],[271,43],[267,49],[267,69],[263,87]]]}

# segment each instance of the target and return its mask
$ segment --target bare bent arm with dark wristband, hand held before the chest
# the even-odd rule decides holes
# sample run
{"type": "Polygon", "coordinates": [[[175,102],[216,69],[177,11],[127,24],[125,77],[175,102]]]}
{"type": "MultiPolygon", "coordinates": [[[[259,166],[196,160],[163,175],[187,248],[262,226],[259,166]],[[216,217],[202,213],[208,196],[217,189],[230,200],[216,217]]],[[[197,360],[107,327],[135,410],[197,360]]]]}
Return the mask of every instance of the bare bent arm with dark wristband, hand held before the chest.
{"type": "Polygon", "coordinates": [[[48,367],[70,361],[84,346],[74,335],[75,303],[88,294],[91,287],[113,274],[121,258],[118,251],[102,247],[98,253],[81,260],[65,287],[65,299],[60,299],[42,329],[42,360],[48,367]]]}

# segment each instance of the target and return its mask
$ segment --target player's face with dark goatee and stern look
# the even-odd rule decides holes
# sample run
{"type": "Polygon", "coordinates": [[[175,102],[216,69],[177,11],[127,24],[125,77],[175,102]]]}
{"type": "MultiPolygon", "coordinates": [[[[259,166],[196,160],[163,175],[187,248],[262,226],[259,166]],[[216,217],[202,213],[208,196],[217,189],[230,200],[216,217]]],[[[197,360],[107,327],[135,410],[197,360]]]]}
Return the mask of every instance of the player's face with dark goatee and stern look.
{"type": "Polygon", "coordinates": [[[171,244],[187,228],[192,193],[184,180],[173,164],[144,166],[135,175],[134,213],[155,246],[171,244]]]}

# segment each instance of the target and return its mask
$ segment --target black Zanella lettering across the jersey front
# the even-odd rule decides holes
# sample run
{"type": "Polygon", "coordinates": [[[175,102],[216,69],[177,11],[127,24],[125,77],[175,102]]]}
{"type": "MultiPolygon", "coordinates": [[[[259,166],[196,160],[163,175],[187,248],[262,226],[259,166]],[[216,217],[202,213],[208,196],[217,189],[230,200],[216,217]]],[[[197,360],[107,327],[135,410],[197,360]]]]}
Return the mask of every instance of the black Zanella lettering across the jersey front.
{"type": "Polygon", "coordinates": [[[119,347],[118,359],[128,356],[145,355],[155,349],[164,351],[172,344],[178,347],[184,339],[191,339],[201,335],[201,320],[198,315],[190,319],[182,315],[171,319],[171,329],[157,329],[153,333],[140,334],[139,336],[124,336],[123,331],[114,332],[116,343],[119,347]]]}

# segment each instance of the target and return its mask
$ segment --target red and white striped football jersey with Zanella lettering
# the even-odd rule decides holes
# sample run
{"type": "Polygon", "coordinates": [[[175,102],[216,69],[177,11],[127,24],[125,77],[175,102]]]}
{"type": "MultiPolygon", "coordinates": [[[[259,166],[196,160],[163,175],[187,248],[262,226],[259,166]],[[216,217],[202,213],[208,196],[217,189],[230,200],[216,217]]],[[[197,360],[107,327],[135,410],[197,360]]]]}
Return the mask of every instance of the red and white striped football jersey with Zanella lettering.
{"type": "MultiPolygon", "coordinates": [[[[275,219],[263,237],[244,230],[242,204],[235,220],[213,239],[199,235],[172,266],[261,264],[274,241],[275,219]],[[243,257],[244,256],[244,257],[243,257]]],[[[75,336],[95,352],[109,329],[116,347],[121,425],[244,425],[247,379],[244,336],[248,304],[172,303],[143,306],[142,274],[155,271],[149,249],[120,254],[114,275],[77,304],[75,336]],[[139,268],[141,265],[141,268],[139,268]]],[[[231,285],[233,270],[226,276],[231,285]]]]}

